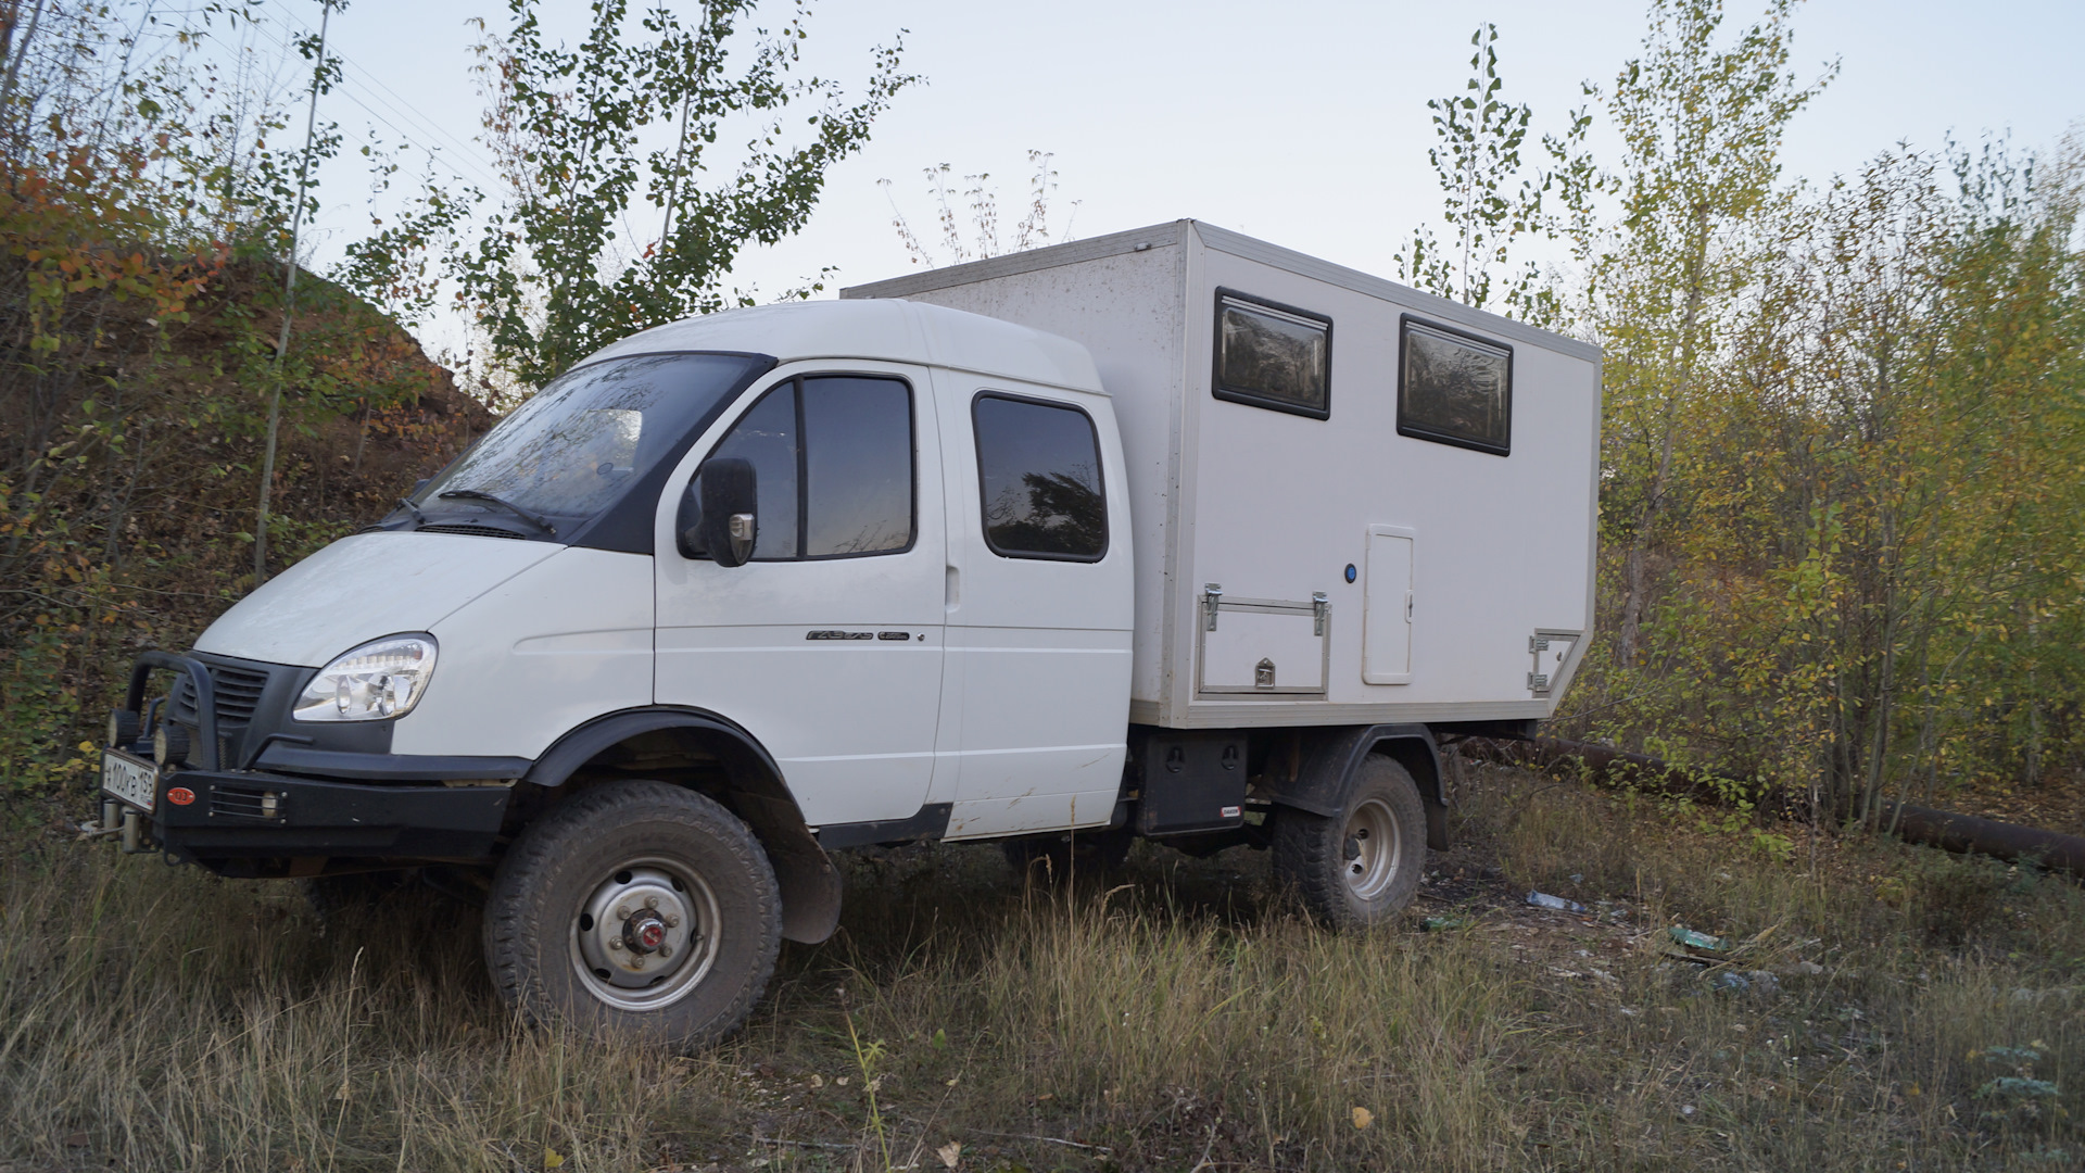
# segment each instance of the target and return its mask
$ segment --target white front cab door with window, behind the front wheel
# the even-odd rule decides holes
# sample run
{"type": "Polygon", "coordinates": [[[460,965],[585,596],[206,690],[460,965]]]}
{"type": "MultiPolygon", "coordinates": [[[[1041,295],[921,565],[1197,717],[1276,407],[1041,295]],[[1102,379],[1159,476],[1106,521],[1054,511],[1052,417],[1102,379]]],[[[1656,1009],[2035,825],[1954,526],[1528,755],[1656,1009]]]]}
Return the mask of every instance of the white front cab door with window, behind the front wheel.
{"type": "Polygon", "coordinates": [[[778,376],[667,482],[655,695],[744,726],[811,827],[911,818],[934,774],[942,668],[932,386],[894,363],[778,376]],[[673,543],[682,493],[709,455],[755,468],[759,532],[744,566],[673,543]]]}

